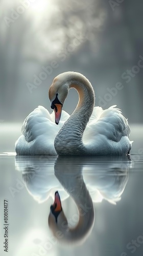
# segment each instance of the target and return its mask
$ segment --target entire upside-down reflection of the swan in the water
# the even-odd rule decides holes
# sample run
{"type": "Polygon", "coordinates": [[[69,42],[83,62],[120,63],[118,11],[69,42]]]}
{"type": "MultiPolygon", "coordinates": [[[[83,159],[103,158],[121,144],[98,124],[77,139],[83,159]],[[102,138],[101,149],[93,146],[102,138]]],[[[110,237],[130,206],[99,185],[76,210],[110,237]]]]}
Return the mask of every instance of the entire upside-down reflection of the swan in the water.
{"type": "Polygon", "coordinates": [[[126,156],[16,156],[15,165],[22,171],[26,188],[36,201],[42,203],[52,196],[54,204],[50,207],[48,223],[59,242],[81,243],[94,224],[93,202],[105,199],[116,204],[121,200],[131,161],[126,156]],[[69,227],[62,208],[62,201],[68,196],[78,208],[74,227],[69,227]]]}

